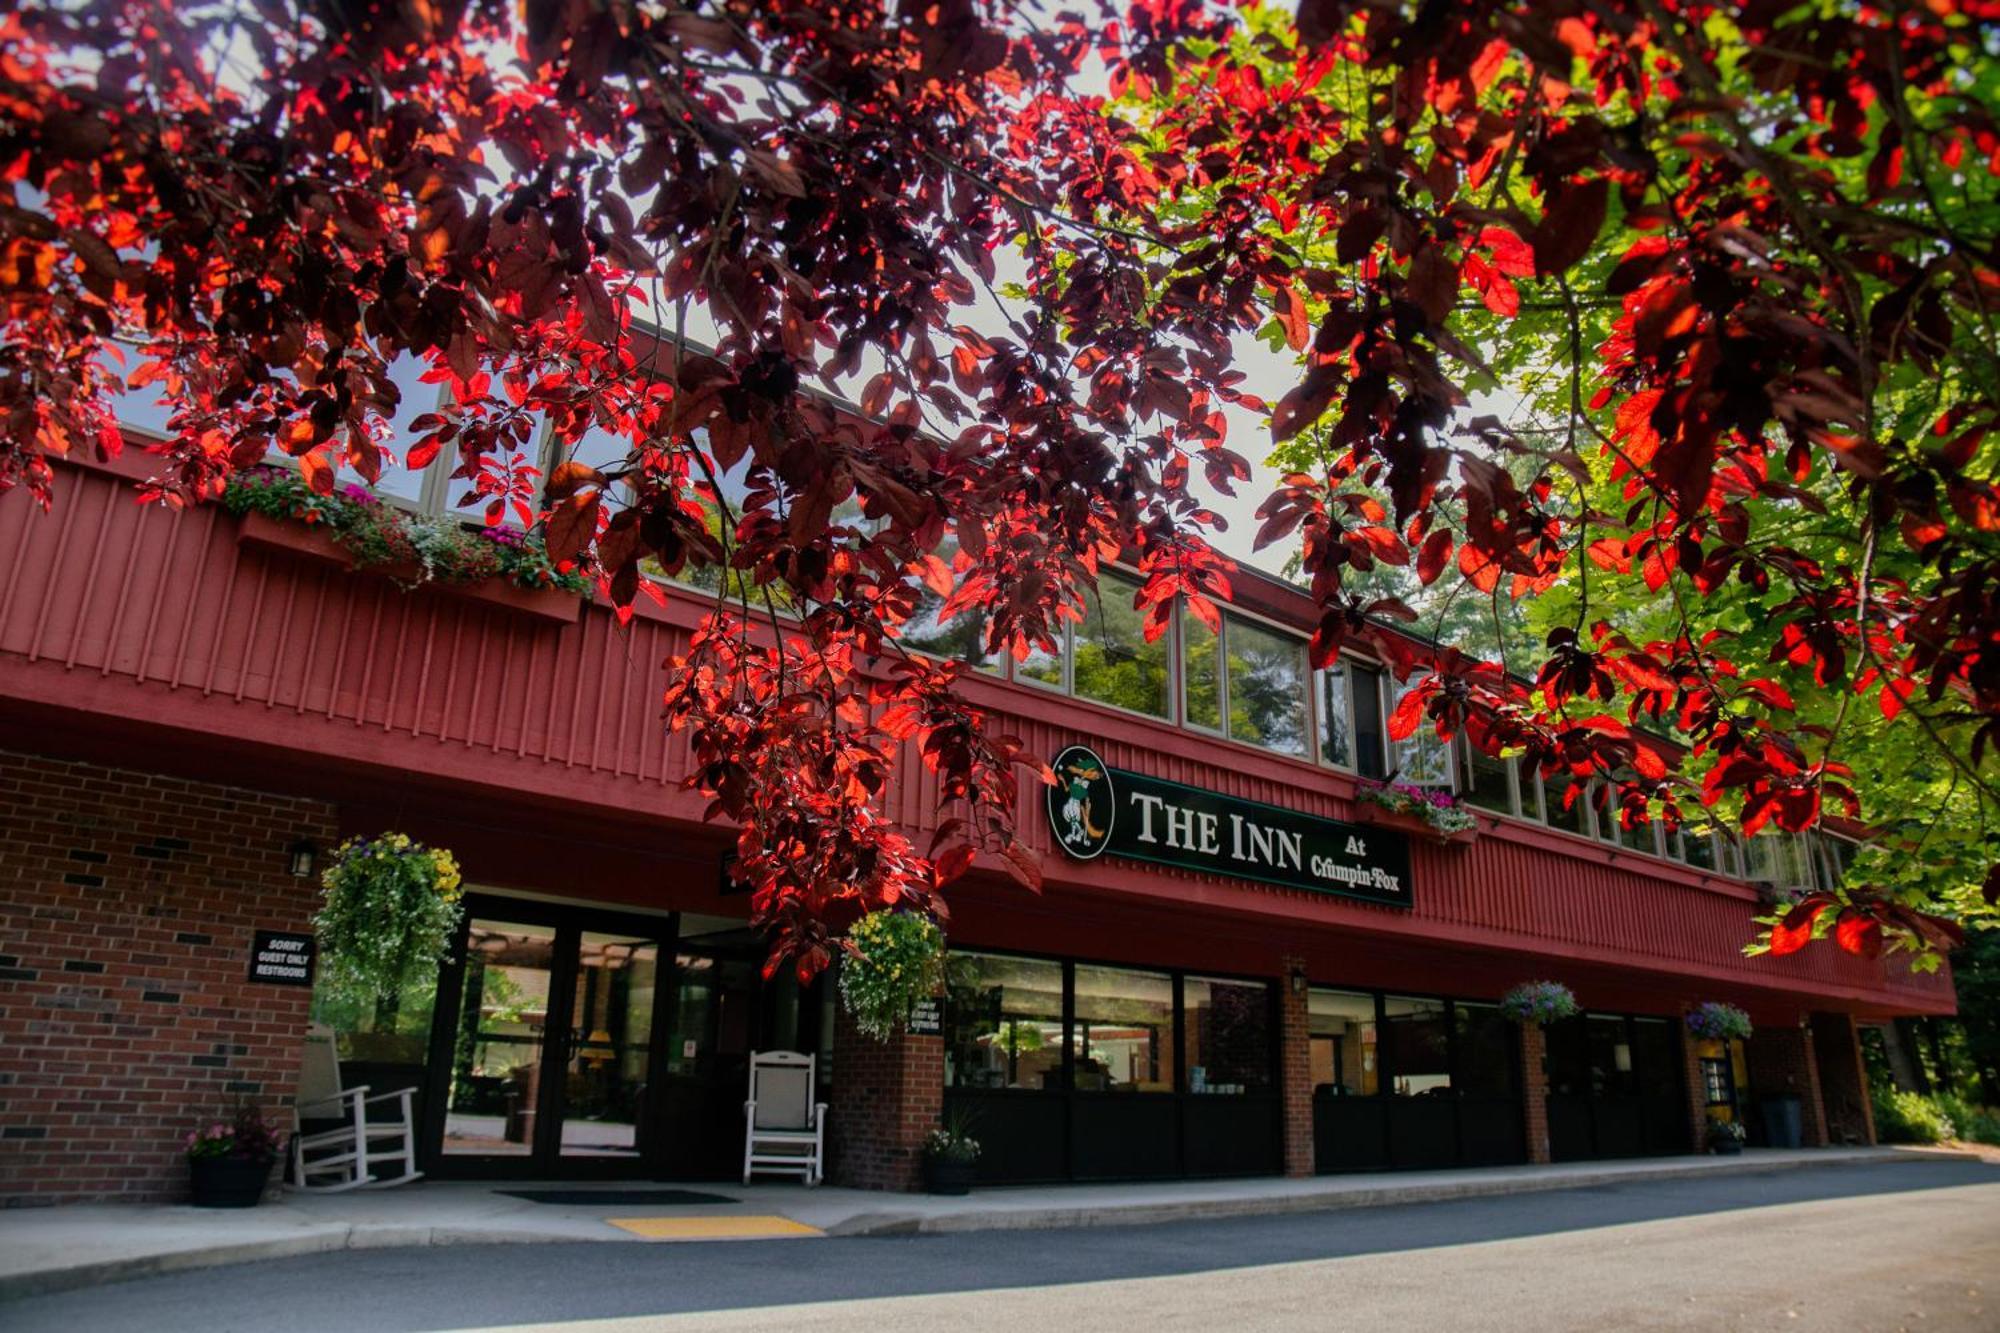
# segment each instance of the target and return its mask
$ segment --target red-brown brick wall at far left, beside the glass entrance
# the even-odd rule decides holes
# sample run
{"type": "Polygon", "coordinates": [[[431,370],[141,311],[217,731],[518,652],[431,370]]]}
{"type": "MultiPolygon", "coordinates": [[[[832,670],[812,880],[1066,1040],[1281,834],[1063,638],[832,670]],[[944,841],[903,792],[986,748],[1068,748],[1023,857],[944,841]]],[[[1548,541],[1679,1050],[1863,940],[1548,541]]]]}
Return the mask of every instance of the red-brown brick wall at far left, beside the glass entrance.
{"type": "Polygon", "coordinates": [[[198,1119],[286,1115],[310,991],[248,969],[300,837],[332,807],[0,753],[0,1203],[178,1199],[198,1119]]]}

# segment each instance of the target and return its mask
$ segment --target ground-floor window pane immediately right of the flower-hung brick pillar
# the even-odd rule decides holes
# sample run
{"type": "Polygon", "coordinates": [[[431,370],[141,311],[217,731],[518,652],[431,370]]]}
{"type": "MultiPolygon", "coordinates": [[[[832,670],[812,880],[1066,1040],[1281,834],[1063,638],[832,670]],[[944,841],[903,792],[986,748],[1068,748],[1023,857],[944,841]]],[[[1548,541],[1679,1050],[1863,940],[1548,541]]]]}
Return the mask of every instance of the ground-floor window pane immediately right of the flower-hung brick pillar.
{"type": "Polygon", "coordinates": [[[944,1085],[1062,1087],[1062,965],[952,951],[944,965],[944,1085]]]}

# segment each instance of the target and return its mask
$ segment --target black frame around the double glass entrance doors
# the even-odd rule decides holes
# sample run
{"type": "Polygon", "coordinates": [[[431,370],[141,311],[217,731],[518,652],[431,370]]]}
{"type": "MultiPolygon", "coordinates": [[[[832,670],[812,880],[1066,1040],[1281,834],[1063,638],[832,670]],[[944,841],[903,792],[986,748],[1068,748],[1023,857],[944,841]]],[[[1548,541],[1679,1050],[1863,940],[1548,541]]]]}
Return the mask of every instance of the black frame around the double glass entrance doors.
{"type": "Polygon", "coordinates": [[[666,1063],[666,1033],[674,1019],[678,997],[680,913],[652,915],[592,907],[582,903],[550,903],[544,899],[514,899],[506,895],[468,893],[464,919],[452,939],[452,953],[440,965],[438,1001],[430,1021],[430,1057],[424,1067],[424,1117],[418,1131],[418,1165],[436,1179],[656,1179],[664,1169],[662,1125],[658,1099],[650,1095],[654,1071],[666,1063]],[[478,1155],[444,1151],[444,1117],[450,1101],[454,1045],[466,987],[466,937],[472,921],[508,921],[552,927],[554,965],[548,983],[548,1015],[542,1025],[542,1077],[536,1093],[534,1143],[526,1155],[478,1155]],[[578,943],[584,931],[622,933],[654,939],[660,945],[658,981],[654,985],[652,1027],[646,1039],[646,1099],[640,1111],[638,1135],[644,1149],[634,1157],[562,1157],[562,1113],[568,1065],[572,1007],[576,1003],[578,943]]]}

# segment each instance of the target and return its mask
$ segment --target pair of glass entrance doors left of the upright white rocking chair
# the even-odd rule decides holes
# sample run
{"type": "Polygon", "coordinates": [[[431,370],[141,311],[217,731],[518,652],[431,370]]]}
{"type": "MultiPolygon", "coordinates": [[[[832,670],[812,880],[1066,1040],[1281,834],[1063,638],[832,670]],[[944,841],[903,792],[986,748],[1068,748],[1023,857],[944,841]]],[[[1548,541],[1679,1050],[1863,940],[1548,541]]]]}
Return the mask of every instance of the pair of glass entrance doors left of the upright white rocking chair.
{"type": "Polygon", "coordinates": [[[478,907],[446,967],[450,1021],[432,1045],[434,1165],[486,1177],[656,1167],[654,1017],[672,925],[478,907]]]}

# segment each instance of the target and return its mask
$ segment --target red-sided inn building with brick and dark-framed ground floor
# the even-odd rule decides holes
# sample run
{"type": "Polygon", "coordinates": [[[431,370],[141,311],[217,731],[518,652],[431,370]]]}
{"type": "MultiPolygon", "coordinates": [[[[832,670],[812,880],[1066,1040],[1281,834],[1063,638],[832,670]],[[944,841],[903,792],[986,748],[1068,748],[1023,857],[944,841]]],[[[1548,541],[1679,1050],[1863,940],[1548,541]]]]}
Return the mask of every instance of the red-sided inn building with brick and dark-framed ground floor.
{"type": "MultiPolygon", "coordinates": [[[[62,466],[52,514],[0,504],[12,1201],[174,1197],[196,1119],[278,1109],[308,993],[246,979],[254,935],[310,921],[296,847],[390,829],[458,855],[466,937],[422,995],[322,1019],[350,1081],[420,1089],[434,1175],[728,1175],[742,1061],[772,1045],[824,1057],[834,1175],[880,1187],[914,1185],[940,1115],[992,1181],[1694,1151],[1718,1097],[1758,1137],[1796,1097],[1806,1141],[1868,1141],[1856,1025],[1952,1011],[1944,975],[1742,957],[1770,891],[1746,873],[1814,883],[1834,843],[1600,829],[1504,765],[1398,757],[1390,687],[1310,673],[1304,598],[1246,578],[1220,644],[1176,626],[1148,658],[1106,596],[1064,654],[966,691],[1044,757],[1396,841],[1406,899],[1078,861],[1034,789],[1044,893],[992,869],[954,889],[938,1031],[868,1043],[830,987],[758,979],[728,837],[680,787],[660,662],[702,594],[620,628],[588,598],[406,590],[284,524],[136,504],[142,474],[62,466]],[[1368,823],[1356,785],[1412,765],[1472,799],[1474,835],[1368,823]],[[1530,979],[1586,1015],[1500,1021],[1530,979]],[[1756,1035],[1704,1051],[1680,1023],[1700,1001],[1756,1035]]],[[[922,831],[928,775],[902,773],[922,831]]]]}

